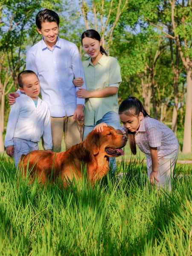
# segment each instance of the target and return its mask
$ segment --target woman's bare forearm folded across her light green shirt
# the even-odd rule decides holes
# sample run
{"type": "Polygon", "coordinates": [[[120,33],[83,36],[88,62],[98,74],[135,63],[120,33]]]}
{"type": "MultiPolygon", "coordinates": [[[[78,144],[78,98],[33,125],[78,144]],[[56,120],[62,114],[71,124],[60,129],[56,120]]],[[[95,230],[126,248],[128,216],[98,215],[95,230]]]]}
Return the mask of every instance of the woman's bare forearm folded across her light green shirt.
{"type": "Polygon", "coordinates": [[[78,98],[103,98],[114,95],[118,92],[118,87],[110,86],[101,90],[87,91],[83,88],[79,88],[76,92],[78,98]]]}

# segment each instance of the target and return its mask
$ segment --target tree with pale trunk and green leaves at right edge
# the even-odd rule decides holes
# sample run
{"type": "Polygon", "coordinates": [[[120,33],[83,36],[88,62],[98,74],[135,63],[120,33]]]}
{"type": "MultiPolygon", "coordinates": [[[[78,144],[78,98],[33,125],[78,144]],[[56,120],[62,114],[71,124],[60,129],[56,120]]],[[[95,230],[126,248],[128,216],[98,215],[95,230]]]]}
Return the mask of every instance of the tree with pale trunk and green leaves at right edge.
{"type": "MultiPolygon", "coordinates": [[[[140,2],[141,14],[148,23],[175,41],[186,70],[186,111],[183,153],[191,152],[192,139],[192,6],[191,0],[159,0],[140,2]],[[146,4],[148,8],[146,8],[146,4]],[[168,22],[169,21],[169,22],[168,22]],[[169,24],[169,25],[168,25],[169,24]],[[172,33],[170,33],[172,32],[172,33]],[[172,35],[173,34],[173,35],[172,35]]],[[[176,102],[177,103],[177,102],[176,102]]]]}

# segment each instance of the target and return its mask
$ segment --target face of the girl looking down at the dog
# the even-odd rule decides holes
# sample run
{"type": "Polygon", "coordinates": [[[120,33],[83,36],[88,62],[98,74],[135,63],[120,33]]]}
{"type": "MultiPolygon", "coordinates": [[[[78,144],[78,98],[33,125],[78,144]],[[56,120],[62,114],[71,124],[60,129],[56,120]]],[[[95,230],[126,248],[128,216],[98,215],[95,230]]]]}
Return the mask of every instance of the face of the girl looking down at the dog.
{"type": "Polygon", "coordinates": [[[140,112],[139,116],[127,116],[125,113],[122,113],[119,117],[125,128],[134,132],[140,127],[141,120],[143,119],[143,113],[140,112]]]}

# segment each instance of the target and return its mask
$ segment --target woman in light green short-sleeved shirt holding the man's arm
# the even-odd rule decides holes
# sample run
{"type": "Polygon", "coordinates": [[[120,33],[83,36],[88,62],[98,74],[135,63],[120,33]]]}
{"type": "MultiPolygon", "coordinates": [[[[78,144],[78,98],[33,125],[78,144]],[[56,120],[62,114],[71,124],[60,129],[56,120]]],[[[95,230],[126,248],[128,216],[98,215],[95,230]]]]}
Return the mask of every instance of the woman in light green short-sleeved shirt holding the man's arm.
{"type": "MultiPolygon", "coordinates": [[[[106,122],[115,129],[119,128],[117,92],[122,79],[118,61],[107,55],[102,47],[101,37],[96,30],[89,29],[83,32],[81,43],[84,51],[90,56],[83,61],[87,90],[79,88],[76,93],[79,98],[86,99],[84,108],[85,138],[101,122],[106,122]]],[[[76,78],[73,83],[76,86],[81,86],[83,80],[76,78]]]]}

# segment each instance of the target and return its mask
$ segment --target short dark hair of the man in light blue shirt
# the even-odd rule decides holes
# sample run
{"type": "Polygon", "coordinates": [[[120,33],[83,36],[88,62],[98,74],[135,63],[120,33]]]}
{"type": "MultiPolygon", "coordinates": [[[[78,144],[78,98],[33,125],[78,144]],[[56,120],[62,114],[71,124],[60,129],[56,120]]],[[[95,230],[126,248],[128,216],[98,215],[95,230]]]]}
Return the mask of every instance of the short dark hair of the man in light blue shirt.
{"type": "Polygon", "coordinates": [[[36,16],[36,25],[38,29],[41,29],[42,22],[56,22],[59,26],[60,19],[56,12],[49,9],[44,9],[43,11],[39,11],[36,16]]]}

